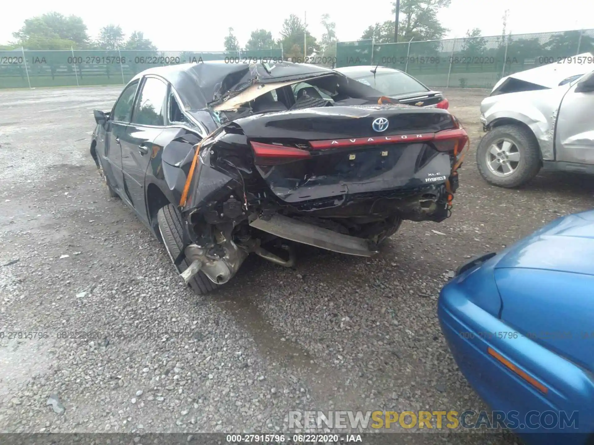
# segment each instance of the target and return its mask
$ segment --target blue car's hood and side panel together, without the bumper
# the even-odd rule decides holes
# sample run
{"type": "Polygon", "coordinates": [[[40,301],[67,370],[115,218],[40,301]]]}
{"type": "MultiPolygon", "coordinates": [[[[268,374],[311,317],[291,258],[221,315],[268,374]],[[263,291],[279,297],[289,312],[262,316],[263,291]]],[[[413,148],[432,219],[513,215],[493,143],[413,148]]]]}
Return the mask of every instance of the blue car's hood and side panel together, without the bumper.
{"type": "Polygon", "coordinates": [[[552,221],[508,249],[494,268],[501,321],[594,371],[594,211],[552,221]]]}

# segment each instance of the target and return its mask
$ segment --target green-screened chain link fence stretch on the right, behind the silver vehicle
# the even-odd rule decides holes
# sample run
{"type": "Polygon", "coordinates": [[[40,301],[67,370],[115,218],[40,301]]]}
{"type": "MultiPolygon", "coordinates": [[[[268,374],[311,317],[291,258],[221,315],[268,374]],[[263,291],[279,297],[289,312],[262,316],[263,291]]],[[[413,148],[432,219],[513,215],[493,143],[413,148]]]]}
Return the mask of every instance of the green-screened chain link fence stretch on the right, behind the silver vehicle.
{"type": "Polygon", "coordinates": [[[594,29],[538,34],[381,43],[338,42],[337,66],[381,65],[431,87],[492,88],[501,77],[594,53],[594,29]]]}

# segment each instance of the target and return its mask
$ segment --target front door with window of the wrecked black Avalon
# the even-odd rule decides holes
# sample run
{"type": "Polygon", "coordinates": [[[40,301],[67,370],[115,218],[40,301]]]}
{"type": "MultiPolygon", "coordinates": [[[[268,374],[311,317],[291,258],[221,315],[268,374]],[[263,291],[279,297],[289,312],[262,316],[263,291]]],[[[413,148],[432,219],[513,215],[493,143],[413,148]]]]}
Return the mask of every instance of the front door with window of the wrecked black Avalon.
{"type": "Polygon", "coordinates": [[[99,156],[103,156],[101,160],[103,171],[108,177],[109,183],[120,191],[124,190],[121,139],[122,136],[125,136],[128,123],[132,117],[132,105],[134,104],[138,83],[138,81],[135,81],[127,85],[113,106],[107,126],[105,153],[99,153],[99,156]]]}

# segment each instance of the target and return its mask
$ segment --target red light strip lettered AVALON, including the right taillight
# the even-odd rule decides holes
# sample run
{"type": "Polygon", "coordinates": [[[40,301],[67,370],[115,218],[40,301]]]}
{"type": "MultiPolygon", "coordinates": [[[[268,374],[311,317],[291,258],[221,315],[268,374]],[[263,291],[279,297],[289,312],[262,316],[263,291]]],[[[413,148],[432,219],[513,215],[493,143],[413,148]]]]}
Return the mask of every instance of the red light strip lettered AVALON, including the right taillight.
{"type": "Polygon", "coordinates": [[[466,131],[462,128],[443,130],[437,133],[417,133],[409,135],[375,136],[372,138],[327,139],[326,141],[309,141],[314,150],[328,150],[331,148],[358,147],[361,145],[409,144],[423,141],[443,141],[444,139],[467,138],[466,131]]]}

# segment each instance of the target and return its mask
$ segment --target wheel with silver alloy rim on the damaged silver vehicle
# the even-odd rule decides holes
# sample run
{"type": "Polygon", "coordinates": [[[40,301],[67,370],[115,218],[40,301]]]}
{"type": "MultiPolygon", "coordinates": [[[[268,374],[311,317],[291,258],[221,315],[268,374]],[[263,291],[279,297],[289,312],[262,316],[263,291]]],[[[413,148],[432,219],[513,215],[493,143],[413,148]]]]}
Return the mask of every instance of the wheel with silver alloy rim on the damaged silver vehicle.
{"type": "Polygon", "coordinates": [[[476,150],[476,164],[489,184],[519,187],[541,169],[541,148],[529,129],[501,125],[481,139],[476,150]]]}

